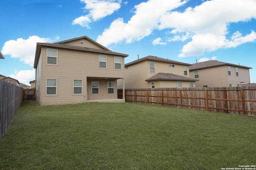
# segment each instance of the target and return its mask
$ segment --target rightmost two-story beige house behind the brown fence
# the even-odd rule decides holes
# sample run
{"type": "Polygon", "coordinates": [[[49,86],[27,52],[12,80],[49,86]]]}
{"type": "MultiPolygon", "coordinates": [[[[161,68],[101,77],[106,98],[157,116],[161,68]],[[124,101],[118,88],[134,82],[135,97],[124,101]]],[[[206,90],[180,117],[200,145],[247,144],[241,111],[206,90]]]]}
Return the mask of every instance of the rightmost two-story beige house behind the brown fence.
{"type": "Polygon", "coordinates": [[[196,87],[240,87],[250,83],[251,67],[224,63],[216,60],[194,63],[190,66],[190,78],[196,79],[196,87]]]}

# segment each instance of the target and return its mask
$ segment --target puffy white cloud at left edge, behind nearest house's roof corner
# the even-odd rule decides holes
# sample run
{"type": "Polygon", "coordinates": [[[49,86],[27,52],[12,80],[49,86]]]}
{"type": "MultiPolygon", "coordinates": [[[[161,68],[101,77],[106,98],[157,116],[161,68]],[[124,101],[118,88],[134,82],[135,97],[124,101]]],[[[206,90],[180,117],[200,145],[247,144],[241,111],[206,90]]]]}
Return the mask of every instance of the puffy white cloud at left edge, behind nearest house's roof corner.
{"type": "MultiPolygon", "coordinates": [[[[54,40],[57,40],[59,37],[56,37],[54,40]]],[[[18,38],[17,40],[9,40],[4,43],[2,49],[3,55],[10,55],[13,58],[19,58],[24,63],[33,66],[36,43],[41,42],[51,42],[50,38],[40,38],[38,36],[30,36],[27,40],[23,38],[18,38]]]]}

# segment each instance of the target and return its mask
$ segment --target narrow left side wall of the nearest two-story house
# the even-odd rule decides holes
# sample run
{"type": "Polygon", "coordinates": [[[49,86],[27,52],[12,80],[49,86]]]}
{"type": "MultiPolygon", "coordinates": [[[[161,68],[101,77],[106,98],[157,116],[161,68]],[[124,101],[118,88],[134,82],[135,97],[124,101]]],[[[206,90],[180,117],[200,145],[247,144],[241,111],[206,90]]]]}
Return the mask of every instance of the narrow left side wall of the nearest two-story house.
{"type": "Polygon", "coordinates": [[[41,77],[41,71],[42,71],[42,52],[40,53],[40,57],[38,59],[38,64],[36,67],[36,100],[38,103],[41,102],[41,83],[42,83],[42,77],[41,77]]]}

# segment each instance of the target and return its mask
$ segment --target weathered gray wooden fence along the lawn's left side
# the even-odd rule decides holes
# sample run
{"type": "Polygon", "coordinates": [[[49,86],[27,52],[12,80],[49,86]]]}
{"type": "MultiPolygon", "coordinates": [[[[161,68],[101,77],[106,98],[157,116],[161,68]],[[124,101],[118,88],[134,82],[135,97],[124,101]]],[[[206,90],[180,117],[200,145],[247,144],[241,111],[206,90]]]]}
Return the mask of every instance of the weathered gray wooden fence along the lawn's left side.
{"type": "Polygon", "coordinates": [[[0,79],[0,139],[23,102],[23,89],[0,79]]]}

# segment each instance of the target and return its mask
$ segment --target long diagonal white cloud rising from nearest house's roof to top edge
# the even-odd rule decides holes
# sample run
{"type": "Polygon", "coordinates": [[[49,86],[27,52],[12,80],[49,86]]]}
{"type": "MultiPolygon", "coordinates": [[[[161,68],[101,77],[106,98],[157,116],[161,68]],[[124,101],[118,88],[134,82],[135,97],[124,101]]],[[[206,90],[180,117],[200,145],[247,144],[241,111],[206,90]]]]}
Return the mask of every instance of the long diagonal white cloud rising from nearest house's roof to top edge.
{"type": "Polygon", "coordinates": [[[180,0],[148,0],[136,5],[134,16],[124,23],[123,18],[114,20],[110,27],[98,36],[97,42],[108,46],[111,43],[132,43],[140,41],[145,36],[149,36],[154,29],[158,28],[160,17],[167,11],[173,10],[185,1],[180,0]]]}

